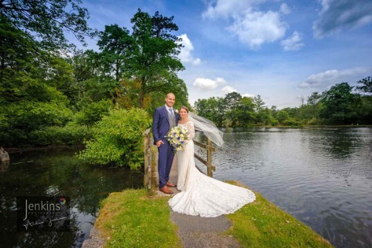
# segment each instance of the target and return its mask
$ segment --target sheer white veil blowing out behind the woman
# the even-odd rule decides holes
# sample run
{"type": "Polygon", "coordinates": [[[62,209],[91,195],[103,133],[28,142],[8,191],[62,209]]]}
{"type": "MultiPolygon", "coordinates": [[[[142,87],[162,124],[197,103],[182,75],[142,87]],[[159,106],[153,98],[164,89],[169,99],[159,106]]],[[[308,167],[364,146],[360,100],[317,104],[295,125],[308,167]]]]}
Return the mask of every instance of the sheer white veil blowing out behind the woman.
{"type": "Polygon", "coordinates": [[[217,126],[210,120],[189,112],[187,116],[194,123],[195,130],[202,131],[212,142],[218,146],[223,145],[223,132],[219,131],[217,126]]]}

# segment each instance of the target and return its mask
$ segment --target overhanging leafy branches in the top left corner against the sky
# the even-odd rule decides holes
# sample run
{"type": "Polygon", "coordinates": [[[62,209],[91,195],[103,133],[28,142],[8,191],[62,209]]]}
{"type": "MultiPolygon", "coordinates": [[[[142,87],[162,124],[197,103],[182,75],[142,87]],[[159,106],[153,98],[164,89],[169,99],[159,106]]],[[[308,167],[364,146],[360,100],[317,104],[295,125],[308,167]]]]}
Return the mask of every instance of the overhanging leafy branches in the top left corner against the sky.
{"type": "Polygon", "coordinates": [[[72,32],[83,44],[84,35],[93,35],[86,23],[88,10],[80,7],[80,3],[80,0],[3,0],[0,16],[18,30],[35,34],[43,48],[63,49],[68,46],[64,32],[72,32]]]}

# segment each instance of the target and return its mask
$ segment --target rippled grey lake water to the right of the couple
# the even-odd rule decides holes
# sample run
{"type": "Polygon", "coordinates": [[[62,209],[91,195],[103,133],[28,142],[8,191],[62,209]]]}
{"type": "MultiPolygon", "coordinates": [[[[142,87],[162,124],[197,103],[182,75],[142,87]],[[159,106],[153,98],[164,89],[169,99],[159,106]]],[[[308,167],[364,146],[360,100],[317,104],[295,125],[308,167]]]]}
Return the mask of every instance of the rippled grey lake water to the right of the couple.
{"type": "Polygon", "coordinates": [[[372,247],[372,128],[225,133],[214,178],[240,180],[337,247],[372,247]]]}

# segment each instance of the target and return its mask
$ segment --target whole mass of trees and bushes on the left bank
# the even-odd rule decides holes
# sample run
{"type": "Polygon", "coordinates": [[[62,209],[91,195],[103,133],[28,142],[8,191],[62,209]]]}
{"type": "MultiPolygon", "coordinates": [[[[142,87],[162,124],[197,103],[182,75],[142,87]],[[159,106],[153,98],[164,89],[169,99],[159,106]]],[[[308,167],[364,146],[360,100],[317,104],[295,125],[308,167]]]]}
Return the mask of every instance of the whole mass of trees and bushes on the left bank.
{"type": "Polygon", "coordinates": [[[138,10],[131,28],[92,30],[77,0],[1,1],[0,146],[86,144],[81,158],[140,166],[142,132],[174,92],[188,105],[177,72],[173,17],[138,10]],[[99,50],[76,50],[71,32],[99,50]],[[128,156],[132,156],[129,158],[128,156]]]}

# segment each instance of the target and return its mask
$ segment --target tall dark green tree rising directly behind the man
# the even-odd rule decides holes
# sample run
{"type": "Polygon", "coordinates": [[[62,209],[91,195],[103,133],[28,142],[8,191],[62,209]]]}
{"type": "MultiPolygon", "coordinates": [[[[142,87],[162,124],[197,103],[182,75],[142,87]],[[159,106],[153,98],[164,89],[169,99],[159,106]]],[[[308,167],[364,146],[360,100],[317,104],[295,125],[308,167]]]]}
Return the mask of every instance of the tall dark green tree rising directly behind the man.
{"type": "Polygon", "coordinates": [[[140,82],[138,99],[140,107],[150,93],[167,93],[169,84],[178,81],[176,72],[183,65],[175,56],[180,52],[179,41],[170,32],[178,30],[173,17],[154,17],[138,9],[131,19],[133,23],[133,50],[129,61],[128,79],[140,82]]]}

